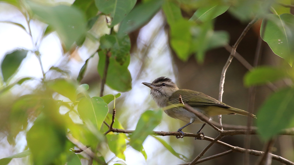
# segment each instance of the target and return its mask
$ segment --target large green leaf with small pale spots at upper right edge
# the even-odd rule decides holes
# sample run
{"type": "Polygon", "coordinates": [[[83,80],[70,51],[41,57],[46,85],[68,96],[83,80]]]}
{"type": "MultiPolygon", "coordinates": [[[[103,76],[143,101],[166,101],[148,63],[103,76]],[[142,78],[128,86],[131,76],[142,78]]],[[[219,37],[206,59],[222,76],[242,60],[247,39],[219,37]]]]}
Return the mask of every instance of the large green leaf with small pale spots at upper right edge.
{"type": "MultiPolygon", "coordinates": [[[[294,16],[292,14],[269,14],[263,40],[268,43],[273,52],[284,58],[290,66],[294,61],[294,16]]],[[[260,33],[264,26],[261,24],[260,33]]]]}

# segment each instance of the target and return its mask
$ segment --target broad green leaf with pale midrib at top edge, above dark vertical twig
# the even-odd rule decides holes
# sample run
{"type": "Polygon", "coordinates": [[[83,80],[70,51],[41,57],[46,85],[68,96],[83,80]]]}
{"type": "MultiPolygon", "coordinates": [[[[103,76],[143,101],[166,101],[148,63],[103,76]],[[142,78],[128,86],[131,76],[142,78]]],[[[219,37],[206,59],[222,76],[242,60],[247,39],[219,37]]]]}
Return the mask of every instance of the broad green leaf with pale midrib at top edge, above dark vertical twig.
{"type": "Polygon", "coordinates": [[[133,9],[137,0],[95,0],[95,4],[99,11],[104,14],[110,14],[113,18],[111,25],[113,27],[120,23],[123,18],[133,9]]]}

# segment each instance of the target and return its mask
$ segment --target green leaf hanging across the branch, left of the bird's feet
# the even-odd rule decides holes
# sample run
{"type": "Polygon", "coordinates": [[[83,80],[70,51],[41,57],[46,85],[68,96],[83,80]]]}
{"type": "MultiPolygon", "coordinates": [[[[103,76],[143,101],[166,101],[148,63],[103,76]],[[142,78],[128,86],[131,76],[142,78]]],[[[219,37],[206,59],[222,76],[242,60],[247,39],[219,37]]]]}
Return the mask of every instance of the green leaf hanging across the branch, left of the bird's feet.
{"type": "Polygon", "coordinates": [[[160,124],[161,118],[162,110],[147,110],[141,115],[136,130],[130,135],[130,144],[134,149],[142,150],[143,142],[148,135],[153,133],[153,129],[160,124]]]}

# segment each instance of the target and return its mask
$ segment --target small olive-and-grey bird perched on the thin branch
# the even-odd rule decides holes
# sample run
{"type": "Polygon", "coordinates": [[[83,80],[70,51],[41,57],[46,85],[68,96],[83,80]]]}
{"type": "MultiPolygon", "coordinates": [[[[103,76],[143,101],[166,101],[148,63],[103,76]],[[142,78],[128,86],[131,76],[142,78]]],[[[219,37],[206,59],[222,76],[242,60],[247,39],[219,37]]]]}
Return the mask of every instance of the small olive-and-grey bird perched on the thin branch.
{"type": "MultiPolygon", "coordinates": [[[[204,93],[188,89],[179,89],[178,86],[170,78],[164,76],[156,78],[152,83],[143,82],[142,84],[151,88],[150,95],[160,108],[173,104],[178,104],[179,97],[181,96],[184,104],[190,105],[191,107],[193,107],[193,109],[209,117],[210,120],[212,119],[212,116],[226,114],[239,114],[256,118],[255,115],[249,112],[231,107],[208,95],[205,95],[204,93]]],[[[188,124],[178,129],[177,132],[180,132],[181,136],[176,136],[177,138],[184,137],[185,133],[182,131],[182,129],[187,127],[188,125],[192,123],[203,123],[203,121],[201,121],[201,119],[199,119],[194,113],[189,112],[183,107],[173,107],[164,110],[164,112],[172,118],[188,122],[188,124]]],[[[202,127],[197,132],[197,134],[201,134],[201,138],[195,139],[204,139],[204,133],[201,132],[201,130],[205,125],[206,123],[204,122],[202,127]]]]}

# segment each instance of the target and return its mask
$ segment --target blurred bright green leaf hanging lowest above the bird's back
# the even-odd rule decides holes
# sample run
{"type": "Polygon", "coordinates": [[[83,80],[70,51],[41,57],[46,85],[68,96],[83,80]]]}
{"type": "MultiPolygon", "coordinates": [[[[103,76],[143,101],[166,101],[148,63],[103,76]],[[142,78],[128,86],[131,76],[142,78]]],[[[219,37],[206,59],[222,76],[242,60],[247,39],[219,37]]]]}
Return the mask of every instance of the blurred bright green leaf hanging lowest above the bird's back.
{"type": "Polygon", "coordinates": [[[180,19],[171,25],[171,47],[183,61],[187,61],[190,53],[192,23],[186,19],[180,19]]]}

